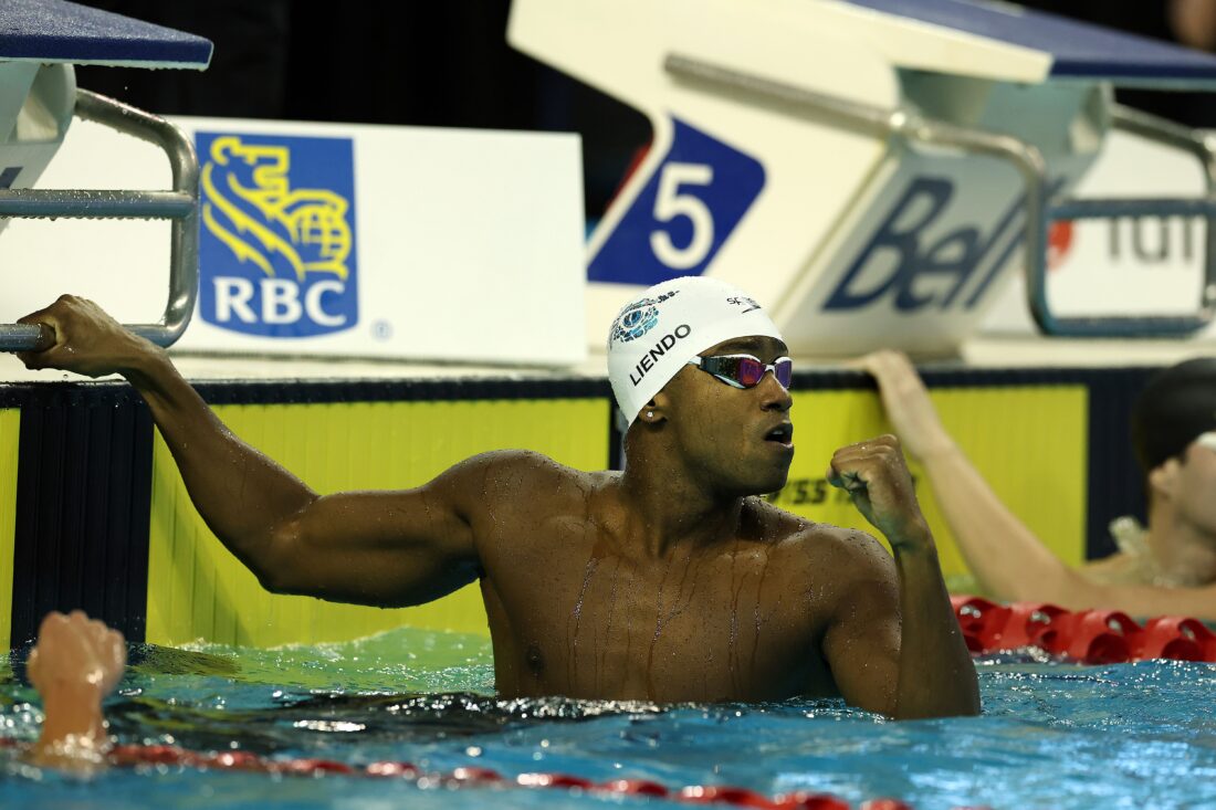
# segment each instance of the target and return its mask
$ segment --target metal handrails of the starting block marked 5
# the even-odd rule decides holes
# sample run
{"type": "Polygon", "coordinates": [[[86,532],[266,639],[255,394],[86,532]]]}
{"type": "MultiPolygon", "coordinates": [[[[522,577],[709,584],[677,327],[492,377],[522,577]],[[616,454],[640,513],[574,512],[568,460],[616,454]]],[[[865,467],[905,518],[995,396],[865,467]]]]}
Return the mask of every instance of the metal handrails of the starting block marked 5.
{"type": "Polygon", "coordinates": [[[899,137],[908,144],[957,148],[1010,162],[1021,175],[1026,216],[1026,303],[1040,330],[1053,336],[1160,337],[1190,334],[1212,321],[1216,306],[1216,158],[1207,141],[1160,119],[1115,107],[1113,124],[1200,157],[1207,195],[1198,199],[1070,199],[1049,204],[1047,165],[1032,145],[1012,135],[969,129],[922,118],[903,109],[886,109],[848,99],[806,90],[764,77],[725,68],[676,54],[664,61],[668,73],[717,91],[737,94],[743,101],[775,105],[779,109],[826,116],[841,124],[899,137]],[[1200,310],[1190,316],[1059,317],[1047,302],[1047,232],[1051,223],[1069,218],[1203,215],[1207,221],[1205,281],[1200,310]]]}

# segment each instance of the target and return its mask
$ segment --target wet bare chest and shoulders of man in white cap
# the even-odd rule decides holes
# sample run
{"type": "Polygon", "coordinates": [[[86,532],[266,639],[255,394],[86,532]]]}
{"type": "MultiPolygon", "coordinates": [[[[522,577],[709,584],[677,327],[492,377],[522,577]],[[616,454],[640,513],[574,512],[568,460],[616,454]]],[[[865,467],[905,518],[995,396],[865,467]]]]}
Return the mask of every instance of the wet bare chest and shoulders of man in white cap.
{"type": "MultiPolygon", "coordinates": [[[[523,455],[495,469],[486,494],[500,506],[474,529],[502,693],[834,696],[822,647],[835,612],[858,590],[876,613],[895,606],[890,558],[873,539],[760,499],[745,500],[734,536],[652,555],[626,534],[620,476],[523,455]],[[548,493],[542,504],[536,491],[548,493]]],[[[867,635],[885,653],[872,658],[882,684],[871,691],[890,701],[897,626],[871,624],[867,635]]]]}

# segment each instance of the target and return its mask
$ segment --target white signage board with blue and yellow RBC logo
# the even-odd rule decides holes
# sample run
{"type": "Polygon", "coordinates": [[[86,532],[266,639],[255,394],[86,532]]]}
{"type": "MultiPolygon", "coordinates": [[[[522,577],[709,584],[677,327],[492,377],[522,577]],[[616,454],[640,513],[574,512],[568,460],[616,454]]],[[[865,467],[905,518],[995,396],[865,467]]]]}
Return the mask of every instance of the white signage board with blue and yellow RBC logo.
{"type": "MultiPolygon", "coordinates": [[[[201,171],[199,298],[182,351],[572,365],[584,339],[576,135],[175,119],[201,171]]],[[[154,147],[74,122],[39,187],[168,189],[154,147]]],[[[27,221],[0,240],[0,317],[63,292],[159,317],[169,227],[27,221]]]]}

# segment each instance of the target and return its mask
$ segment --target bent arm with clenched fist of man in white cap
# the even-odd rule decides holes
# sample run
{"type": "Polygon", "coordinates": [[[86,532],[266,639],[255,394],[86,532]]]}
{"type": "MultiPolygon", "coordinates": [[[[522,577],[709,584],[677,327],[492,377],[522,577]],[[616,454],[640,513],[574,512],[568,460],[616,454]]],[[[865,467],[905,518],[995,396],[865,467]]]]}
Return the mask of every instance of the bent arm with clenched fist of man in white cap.
{"type": "MultiPolygon", "coordinates": [[[[879,675],[886,675],[888,690],[894,665],[894,704],[878,710],[896,719],[979,714],[975,666],[950,604],[938,550],[916,502],[899,440],[885,435],[838,450],[827,477],[849,491],[854,505],[895,552],[894,576],[889,562],[871,562],[862,567],[858,586],[841,597],[837,624],[826,639],[829,656],[852,662],[854,673],[858,658],[878,668],[879,675]],[[899,639],[895,660],[890,642],[883,642],[891,636],[899,639]]],[[[837,664],[832,666],[838,674],[837,664]]],[[[867,679],[862,674],[858,681],[876,684],[862,692],[869,696],[871,705],[858,701],[860,705],[874,708],[880,698],[874,691],[882,685],[879,676],[867,679]]],[[[839,675],[837,682],[849,698],[849,687],[839,675]]]]}

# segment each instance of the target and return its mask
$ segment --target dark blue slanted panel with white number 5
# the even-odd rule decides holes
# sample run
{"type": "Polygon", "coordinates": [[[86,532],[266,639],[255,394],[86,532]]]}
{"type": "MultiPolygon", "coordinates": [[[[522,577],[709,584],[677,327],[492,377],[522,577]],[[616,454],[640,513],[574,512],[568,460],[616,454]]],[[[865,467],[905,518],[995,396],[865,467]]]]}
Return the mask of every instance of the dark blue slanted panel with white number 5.
{"type": "Polygon", "coordinates": [[[663,163],[591,259],[591,281],[648,287],[700,275],[764,189],[754,157],[672,125],[663,163]]]}

